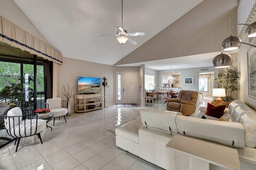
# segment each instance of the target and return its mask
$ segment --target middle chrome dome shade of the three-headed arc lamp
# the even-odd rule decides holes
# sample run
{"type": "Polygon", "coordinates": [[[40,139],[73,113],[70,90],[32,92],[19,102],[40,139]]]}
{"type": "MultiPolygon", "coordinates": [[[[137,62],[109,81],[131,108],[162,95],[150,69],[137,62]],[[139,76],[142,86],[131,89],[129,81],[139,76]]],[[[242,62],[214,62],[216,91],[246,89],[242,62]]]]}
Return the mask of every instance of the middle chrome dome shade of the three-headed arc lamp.
{"type": "Polygon", "coordinates": [[[238,38],[236,36],[230,36],[230,37],[226,38],[225,40],[223,40],[222,49],[224,51],[231,51],[234,49],[238,49],[241,45],[240,42],[241,42],[240,38],[238,38]]]}

